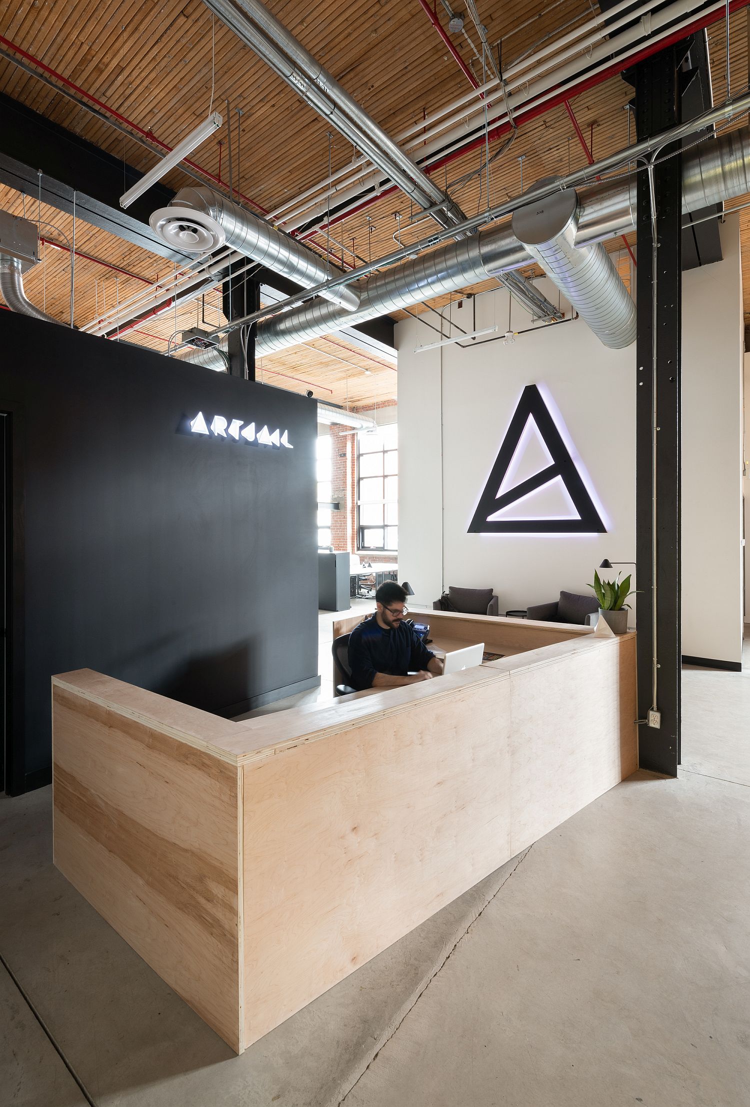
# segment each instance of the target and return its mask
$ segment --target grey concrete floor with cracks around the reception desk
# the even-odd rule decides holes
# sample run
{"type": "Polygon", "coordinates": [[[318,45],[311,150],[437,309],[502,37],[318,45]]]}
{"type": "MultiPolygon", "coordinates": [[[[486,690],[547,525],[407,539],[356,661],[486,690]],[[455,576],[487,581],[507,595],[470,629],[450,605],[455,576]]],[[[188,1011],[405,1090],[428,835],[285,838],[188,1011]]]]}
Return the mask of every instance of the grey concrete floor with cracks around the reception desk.
{"type": "Polygon", "coordinates": [[[52,867],[49,789],[3,798],[0,1104],[744,1107],[746,664],[686,669],[677,780],[613,788],[241,1057],[52,867]]]}

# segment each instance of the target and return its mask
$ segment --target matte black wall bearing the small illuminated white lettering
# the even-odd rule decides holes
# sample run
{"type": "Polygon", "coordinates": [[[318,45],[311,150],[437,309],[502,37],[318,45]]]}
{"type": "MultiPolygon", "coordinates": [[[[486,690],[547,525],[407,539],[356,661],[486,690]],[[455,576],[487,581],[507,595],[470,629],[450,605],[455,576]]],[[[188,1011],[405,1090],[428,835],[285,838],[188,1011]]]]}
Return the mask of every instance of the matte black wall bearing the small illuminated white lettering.
{"type": "Polygon", "coordinates": [[[23,472],[27,782],[50,766],[53,673],[213,712],[314,682],[314,401],[6,311],[0,359],[23,472]],[[294,448],[185,433],[199,411],[294,448]]]}

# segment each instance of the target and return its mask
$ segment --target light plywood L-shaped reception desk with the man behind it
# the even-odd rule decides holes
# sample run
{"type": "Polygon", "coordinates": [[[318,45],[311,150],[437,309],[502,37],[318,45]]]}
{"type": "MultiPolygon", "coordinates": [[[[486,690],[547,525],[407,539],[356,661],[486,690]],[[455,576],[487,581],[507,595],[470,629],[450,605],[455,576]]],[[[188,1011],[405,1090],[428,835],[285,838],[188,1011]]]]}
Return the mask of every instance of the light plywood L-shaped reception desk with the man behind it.
{"type": "Polygon", "coordinates": [[[508,655],[239,723],[53,679],[55,865],[238,1052],[636,768],[634,634],[447,621],[508,655]]]}

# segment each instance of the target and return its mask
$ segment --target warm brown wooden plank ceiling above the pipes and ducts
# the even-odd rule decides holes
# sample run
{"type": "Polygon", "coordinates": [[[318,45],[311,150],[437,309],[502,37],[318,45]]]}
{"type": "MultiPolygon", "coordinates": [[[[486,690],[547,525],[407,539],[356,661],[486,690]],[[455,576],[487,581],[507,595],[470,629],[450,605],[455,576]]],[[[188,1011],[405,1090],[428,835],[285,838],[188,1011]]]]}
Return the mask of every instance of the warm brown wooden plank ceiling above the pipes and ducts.
{"type": "MultiPolygon", "coordinates": [[[[273,0],[269,7],[390,135],[419,123],[437,106],[469,89],[466,75],[417,0],[332,0],[313,9],[304,0],[273,0]]],[[[462,10],[458,3],[454,7],[462,10]]],[[[592,9],[586,0],[552,4],[546,0],[479,0],[479,10],[490,41],[502,43],[503,63],[509,64],[545,35],[590,17],[592,9]]],[[[447,25],[441,9],[440,18],[447,25]]],[[[468,17],[467,29],[476,41],[468,17]]],[[[24,51],[32,70],[39,72],[41,62],[119,113],[128,121],[128,133],[115,130],[2,58],[1,92],[144,172],[155,164],[155,155],[134,135],[133,124],[174,146],[206,117],[211,104],[226,122],[229,101],[235,185],[251,209],[278,208],[325,178],[329,157],[334,169],[353,157],[351,144],[337,132],[329,139],[324,121],[219,20],[215,21],[201,0],[170,0],[158,6],[153,0],[12,0],[0,3],[0,34],[6,40],[2,48],[17,58],[21,56],[18,51],[24,51]]],[[[708,34],[713,96],[718,102],[726,91],[723,24],[715,24],[708,34]]],[[[452,41],[467,63],[476,65],[466,40],[455,35],[452,41]]],[[[732,92],[747,86],[747,14],[739,11],[731,18],[732,92]]],[[[480,68],[477,76],[481,79],[480,68]]],[[[51,79],[59,81],[56,76],[51,79]]],[[[625,105],[631,96],[631,86],[615,76],[573,101],[594,157],[626,144],[625,105]]],[[[492,144],[490,155],[498,145],[492,144]]],[[[481,210],[487,203],[486,174],[478,172],[482,157],[483,149],[467,153],[435,174],[436,182],[448,186],[467,214],[481,210]]],[[[524,187],[539,177],[585,164],[564,107],[519,127],[512,146],[492,162],[492,203],[518,194],[521,157],[524,187]]],[[[226,188],[226,125],[196,152],[194,161],[220,177],[226,188]]],[[[165,177],[165,183],[178,189],[191,182],[177,168],[165,177]]],[[[0,187],[0,208],[40,220],[40,234],[48,244],[43,246],[42,263],[25,279],[27,291],[32,302],[69,320],[70,254],[50,244],[64,246],[65,239],[72,241],[71,216],[6,187],[0,187]]],[[[330,249],[334,262],[351,267],[395,248],[397,214],[402,217],[404,244],[434,226],[427,221],[409,227],[410,203],[395,193],[336,223],[330,235],[313,236],[308,244],[321,254],[330,249]]],[[[750,267],[750,218],[746,213],[740,218],[744,269],[750,267]]],[[[631,236],[631,244],[634,240],[635,236],[631,236]]],[[[81,220],[76,221],[75,248],[80,255],[87,255],[79,256],[75,266],[77,325],[90,322],[104,306],[108,309],[127,299],[144,287],[144,281],[163,279],[171,268],[164,259],[81,220]]],[[[631,261],[622,241],[610,244],[610,248],[616,251],[618,268],[629,282],[631,261]]],[[[477,284],[470,291],[489,287],[492,282],[477,284]]],[[[744,288],[747,318],[750,272],[744,288]]],[[[440,308],[448,299],[431,301],[430,306],[440,308]]],[[[423,311],[425,306],[414,310],[423,311]]],[[[195,324],[210,325],[221,318],[220,298],[213,291],[177,312],[170,309],[155,315],[126,337],[165,352],[176,331],[195,324]]],[[[396,395],[393,365],[374,354],[364,355],[342,334],[264,358],[258,370],[268,383],[294,391],[312,389],[321,399],[335,403],[367,405],[396,395]]]]}

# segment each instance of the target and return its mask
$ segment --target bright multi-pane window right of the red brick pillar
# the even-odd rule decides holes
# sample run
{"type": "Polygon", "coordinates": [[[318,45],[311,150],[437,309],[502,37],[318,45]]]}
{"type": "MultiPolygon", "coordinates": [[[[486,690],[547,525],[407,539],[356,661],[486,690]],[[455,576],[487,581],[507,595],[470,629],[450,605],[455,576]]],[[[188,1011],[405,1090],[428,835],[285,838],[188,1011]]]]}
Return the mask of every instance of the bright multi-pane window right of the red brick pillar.
{"type": "Polygon", "coordinates": [[[398,550],[398,428],[357,435],[357,540],[361,550],[398,550]]]}

